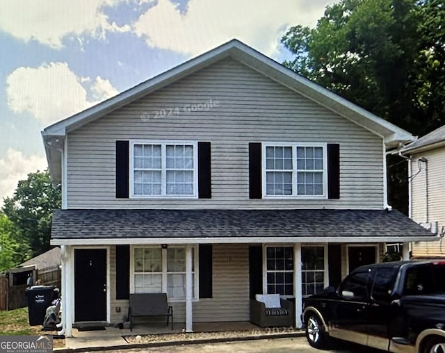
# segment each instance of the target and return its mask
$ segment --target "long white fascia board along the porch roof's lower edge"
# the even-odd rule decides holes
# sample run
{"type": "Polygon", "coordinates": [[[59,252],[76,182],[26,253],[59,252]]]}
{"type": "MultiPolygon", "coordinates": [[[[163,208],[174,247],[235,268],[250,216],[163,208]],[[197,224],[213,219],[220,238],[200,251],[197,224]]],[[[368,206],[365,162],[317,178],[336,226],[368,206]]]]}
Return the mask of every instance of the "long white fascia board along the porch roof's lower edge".
{"type": "Polygon", "coordinates": [[[391,236],[391,237],[245,237],[245,238],[85,238],[85,239],[51,239],[51,245],[159,245],[159,244],[264,244],[264,243],[385,243],[435,241],[439,236],[391,236]]]}

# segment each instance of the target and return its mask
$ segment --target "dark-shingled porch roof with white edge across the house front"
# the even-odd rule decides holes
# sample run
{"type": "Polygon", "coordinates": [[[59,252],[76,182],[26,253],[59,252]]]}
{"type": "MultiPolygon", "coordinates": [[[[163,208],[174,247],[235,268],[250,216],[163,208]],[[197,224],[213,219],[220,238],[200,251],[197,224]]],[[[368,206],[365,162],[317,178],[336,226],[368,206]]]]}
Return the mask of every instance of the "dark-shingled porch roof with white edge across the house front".
{"type": "Polygon", "coordinates": [[[68,209],[51,244],[314,243],[436,240],[398,211],[332,209],[68,209]]]}

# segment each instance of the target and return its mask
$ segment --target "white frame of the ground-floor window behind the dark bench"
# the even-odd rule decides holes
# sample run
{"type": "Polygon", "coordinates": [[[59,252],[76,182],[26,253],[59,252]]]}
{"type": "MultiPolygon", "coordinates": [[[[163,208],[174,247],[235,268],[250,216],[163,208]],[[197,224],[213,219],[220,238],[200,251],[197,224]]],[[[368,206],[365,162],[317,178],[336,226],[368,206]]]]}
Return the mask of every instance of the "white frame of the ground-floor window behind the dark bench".
{"type": "MultiPolygon", "coordinates": [[[[131,246],[131,252],[130,252],[130,293],[135,293],[135,288],[134,288],[134,252],[135,249],[137,248],[161,248],[161,252],[162,252],[162,293],[167,293],[167,249],[168,247],[182,247],[184,248],[184,250],[186,249],[186,245],[168,245],[168,247],[162,247],[161,245],[132,245],[131,246]]],[[[193,302],[196,302],[199,300],[200,297],[200,291],[199,291],[199,277],[200,277],[200,273],[199,273],[199,263],[198,263],[198,254],[197,254],[197,246],[196,245],[191,245],[191,247],[193,248],[193,263],[194,263],[194,271],[193,271],[193,286],[195,288],[195,293],[193,293],[193,302]]],[[[174,273],[174,272],[170,272],[170,273],[174,273]]],[[[187,274],[186,274],[187,275],[187,274]]],[[[168,297],[168,301],[169,302],[186,302],[186,297],[168,297]]]]}

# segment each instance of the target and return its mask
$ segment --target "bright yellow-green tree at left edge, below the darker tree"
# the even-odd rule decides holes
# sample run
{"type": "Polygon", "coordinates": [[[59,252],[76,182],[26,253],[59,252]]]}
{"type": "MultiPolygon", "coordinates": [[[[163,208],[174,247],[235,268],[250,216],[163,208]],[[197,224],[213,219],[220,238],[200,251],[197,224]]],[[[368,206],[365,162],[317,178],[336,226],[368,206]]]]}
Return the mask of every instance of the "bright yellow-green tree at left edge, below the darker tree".
{"type": "Polygon", "coordinates": [[[19,242],[18,231],[13,222],[0,213],[0,272],[25,261],[27,249],[26,244],[19,242]]]}

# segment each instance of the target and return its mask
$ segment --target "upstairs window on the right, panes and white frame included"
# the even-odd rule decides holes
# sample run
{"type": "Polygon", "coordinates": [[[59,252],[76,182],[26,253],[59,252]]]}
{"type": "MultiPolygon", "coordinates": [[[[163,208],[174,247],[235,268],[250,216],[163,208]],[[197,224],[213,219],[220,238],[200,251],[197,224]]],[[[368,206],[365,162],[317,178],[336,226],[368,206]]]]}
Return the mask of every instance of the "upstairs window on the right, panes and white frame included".
{"type": "Polygon", "coordinates": [[[325,144],[264,145],[264,195],[326,197],[325,144]]]}

